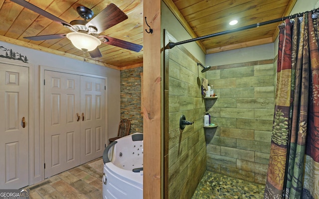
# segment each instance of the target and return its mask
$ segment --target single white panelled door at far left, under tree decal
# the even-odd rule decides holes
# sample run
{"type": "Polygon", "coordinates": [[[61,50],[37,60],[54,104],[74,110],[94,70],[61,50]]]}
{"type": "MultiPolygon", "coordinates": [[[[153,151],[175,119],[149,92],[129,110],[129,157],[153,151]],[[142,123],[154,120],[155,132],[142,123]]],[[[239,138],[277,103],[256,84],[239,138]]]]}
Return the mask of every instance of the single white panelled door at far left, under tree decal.
{"type": "Polygon", "coordinates": [[[28,185],[28,85],[27,67],[0,64],[1,189],[28,185]]]}

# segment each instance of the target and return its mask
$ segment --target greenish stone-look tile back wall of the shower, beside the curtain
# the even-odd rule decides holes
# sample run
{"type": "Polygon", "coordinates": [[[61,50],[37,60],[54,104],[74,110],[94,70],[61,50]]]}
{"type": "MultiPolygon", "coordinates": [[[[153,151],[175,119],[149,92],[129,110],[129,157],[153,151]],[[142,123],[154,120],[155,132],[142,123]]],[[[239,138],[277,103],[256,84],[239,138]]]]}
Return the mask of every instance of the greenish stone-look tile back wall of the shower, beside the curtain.
{"type": "Polygon", "coordinates": [[[207,170],[265,184],[275,104],[274,60],[215,66],[206,72],[217,100],[207,135],[207,170]]]}

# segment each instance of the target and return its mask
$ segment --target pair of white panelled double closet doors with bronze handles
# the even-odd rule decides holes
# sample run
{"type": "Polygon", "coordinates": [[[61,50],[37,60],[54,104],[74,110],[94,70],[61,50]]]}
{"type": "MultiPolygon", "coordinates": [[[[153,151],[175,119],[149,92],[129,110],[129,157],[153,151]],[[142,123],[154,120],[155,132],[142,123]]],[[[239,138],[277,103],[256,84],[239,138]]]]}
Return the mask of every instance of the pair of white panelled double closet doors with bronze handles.
{"type": "Polygon", "coordinates": [[[101,157],[105,80],[45,71],[45,178],[101,157]]]}

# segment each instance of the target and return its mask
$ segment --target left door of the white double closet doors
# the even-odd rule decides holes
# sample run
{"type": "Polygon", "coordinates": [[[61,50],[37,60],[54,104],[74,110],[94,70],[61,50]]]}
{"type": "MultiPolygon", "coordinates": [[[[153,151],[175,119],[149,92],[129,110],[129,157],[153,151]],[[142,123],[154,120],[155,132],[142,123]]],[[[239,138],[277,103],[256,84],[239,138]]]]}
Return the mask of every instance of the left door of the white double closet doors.
{"type": "Polygon", "coordinates": [[[80,76],[45,71],[44,176],[80,164],[80,76]]]}

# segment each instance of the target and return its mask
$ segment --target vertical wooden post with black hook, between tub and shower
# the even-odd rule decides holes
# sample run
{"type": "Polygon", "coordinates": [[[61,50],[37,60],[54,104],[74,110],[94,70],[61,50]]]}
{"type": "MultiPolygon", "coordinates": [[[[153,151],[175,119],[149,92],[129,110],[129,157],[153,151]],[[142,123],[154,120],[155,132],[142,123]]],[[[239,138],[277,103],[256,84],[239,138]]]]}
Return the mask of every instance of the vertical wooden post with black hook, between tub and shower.
{"type": "Polygon", "coordinates": [[[144,199],[161,199],[161,56],[160,2],[144,0],[143,9],[153,33],[144,21],[143,33],[143,133],[144,199]]]}

